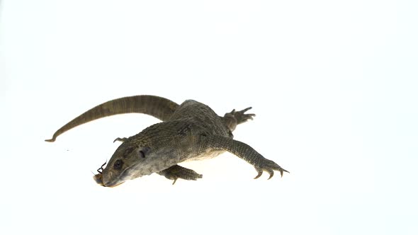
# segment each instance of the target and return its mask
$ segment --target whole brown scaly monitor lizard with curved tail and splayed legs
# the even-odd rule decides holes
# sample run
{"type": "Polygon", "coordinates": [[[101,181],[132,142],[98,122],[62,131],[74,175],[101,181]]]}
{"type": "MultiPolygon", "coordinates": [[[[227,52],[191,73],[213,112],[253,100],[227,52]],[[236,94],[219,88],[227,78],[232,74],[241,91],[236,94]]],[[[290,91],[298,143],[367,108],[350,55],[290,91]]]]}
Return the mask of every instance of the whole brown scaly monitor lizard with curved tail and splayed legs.
{"type": "MultiPolygon", "coordinates": [[[[96,183],[114,187],[126,180],[152,173],[165,176],[174,183],[178,178],[196,180],[202,175],[179,166],[183,161],[193,161],[218,156],[224,151],[239,156],[252,164],[259,178],[264,171],[273,177],[274,171],[288,172],[274,161],[265,159],[249,145],[232,139],[238,124],[252,120],[254,114],[245,114],[246,108],[226,113],[224,117],[203,103],[188,100],[177,105],[158,96],[130,96],[108,101],[92,108],[57,130],[52,139],[78,125],[101,117],[120,113],[145,113],[163,122],[147,127],[123,142],[111,157],[106,168],[94,176],[96,183]]],[[[173,184],[174,184],[173,183],[173,184]]]]}

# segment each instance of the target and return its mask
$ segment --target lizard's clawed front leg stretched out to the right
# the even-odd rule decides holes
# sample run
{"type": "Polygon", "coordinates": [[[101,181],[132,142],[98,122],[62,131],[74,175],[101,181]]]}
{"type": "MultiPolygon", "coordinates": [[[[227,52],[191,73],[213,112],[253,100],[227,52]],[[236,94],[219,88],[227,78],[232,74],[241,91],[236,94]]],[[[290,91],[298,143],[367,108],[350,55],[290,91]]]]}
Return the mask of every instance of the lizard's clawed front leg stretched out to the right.
{"type": "Polygon", "coordinates": [[[248,144],[228,137],[222,137],[218,135],[202,137],[202,146],[200,151],[210,150],[229,151],[239,158],[244,159],[249,164],[252,164],[254,168],[256,168],[258,175],[255,178],[259,178],[263,174],[263,171],[267,171],[270,174],[269,179],[273,177],[274,171],[280,171],[281,176],[283,176],[283,172],[288,172],[281,168],[281,166],[278,166],[278,164],[276,164],[274,161],[264,158],[264,156],[255,151],[248,144]]]}

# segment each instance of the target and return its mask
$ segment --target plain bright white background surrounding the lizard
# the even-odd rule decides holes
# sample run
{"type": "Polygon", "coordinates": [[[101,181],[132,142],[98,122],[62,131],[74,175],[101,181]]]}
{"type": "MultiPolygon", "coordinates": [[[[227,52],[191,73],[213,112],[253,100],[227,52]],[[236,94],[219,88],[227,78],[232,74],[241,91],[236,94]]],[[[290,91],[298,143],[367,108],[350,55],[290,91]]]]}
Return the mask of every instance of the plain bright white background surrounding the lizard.
{"type": "Polygon", "coordinates": [[[1,1],[0,234],[418,234],[417,1],[1,1]],[[113,98],[253,107],[231,154],[116,188],[92,180],[115,137],[77,127],[113,98]]]}

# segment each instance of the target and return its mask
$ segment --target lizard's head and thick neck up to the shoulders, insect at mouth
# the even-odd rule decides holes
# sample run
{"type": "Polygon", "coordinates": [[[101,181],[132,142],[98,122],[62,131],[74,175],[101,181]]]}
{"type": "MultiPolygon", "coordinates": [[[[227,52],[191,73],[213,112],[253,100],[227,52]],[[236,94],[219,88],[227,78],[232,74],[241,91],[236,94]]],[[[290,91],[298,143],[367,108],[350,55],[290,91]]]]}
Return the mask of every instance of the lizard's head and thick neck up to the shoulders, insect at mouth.
{"type": "Polygon", "coordinates": [[[105,187],[115,187],[151,173],[162,171],[179,162],[191,151],[193,141],[183,134],[184,127],[160,122],[126,139],[109,160],[106,168],[98,169],[94,180],[105,187]],[[173,128],[174,125],[174,128],[173,128]],[[100,170],[100,171],[99,171],[100,170]]]}

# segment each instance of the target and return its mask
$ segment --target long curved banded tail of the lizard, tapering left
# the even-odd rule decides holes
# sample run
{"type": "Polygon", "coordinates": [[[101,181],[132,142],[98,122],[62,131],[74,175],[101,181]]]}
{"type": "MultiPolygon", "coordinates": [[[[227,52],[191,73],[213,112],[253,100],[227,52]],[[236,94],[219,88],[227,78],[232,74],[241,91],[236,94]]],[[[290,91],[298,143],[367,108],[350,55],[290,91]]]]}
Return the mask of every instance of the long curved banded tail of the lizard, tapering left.
{"type": "Polygon", "coordinates": [[[86,113],[79,115],[57,130],[52,136],[52,139],[45,139],[45,141],[55,142],[55,139],[67,130],[101,117],[108,117],[116,114],[145,113],[157,117],[159,120],[168,120],[177,107],[179,107],[177,103],[159,96],[128,96],[117,98],[97,105],[86,111],[86,113]]]}

